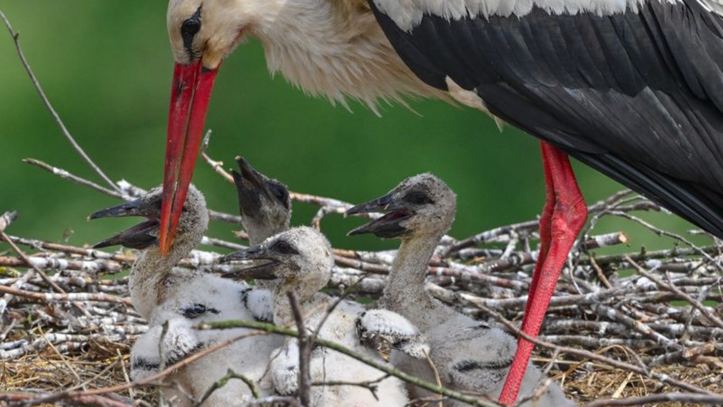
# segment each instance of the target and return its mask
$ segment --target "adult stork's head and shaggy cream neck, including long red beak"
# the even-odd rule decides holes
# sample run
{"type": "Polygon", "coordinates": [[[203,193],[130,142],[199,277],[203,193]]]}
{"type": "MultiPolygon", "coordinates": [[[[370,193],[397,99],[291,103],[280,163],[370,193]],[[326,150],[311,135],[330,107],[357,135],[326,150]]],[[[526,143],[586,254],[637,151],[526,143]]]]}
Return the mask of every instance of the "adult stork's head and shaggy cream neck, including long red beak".
{"type": "MultiPolygon", "coordinates": [[[[200,147],[213,81],[244,37],[259,38],[268,67],[305,91],[375,109],[377,99],[440,96],[395,53],[364,0],[170,0],[176,67],[163,173],[161,252],[171,246],[200,147]]],[[[441,96],[440,96],[441,97],[441,96]]]]}

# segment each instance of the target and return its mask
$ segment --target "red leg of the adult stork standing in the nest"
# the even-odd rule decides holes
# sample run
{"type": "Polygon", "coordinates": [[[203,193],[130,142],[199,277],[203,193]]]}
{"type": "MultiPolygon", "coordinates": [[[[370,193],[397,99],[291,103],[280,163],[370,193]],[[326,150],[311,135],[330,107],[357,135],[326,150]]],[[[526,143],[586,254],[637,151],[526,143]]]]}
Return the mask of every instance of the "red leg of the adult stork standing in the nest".
{"type": "MultiPolygon", "coordinates": [[[[540,217],[540,251],[521,328],[531,337],[539,333],[557,279],[588,214],[568,155],[547,143],[541,146],[546,191],[540,217]]],[[[511,405],[517,399],[533,347],[528,340],[518,340],[500,403],[511,405]]]]}

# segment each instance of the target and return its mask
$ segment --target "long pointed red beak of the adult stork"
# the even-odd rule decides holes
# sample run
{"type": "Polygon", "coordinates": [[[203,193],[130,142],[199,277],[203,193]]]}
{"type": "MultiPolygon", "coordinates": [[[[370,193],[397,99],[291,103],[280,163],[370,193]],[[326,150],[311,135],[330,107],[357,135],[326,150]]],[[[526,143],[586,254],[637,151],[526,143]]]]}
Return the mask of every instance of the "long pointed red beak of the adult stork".
{"type": "Polygon", "coordinates": [[[163,167],[161,205],[161,254],[166,255],[176,234],[186,193],[206,122],[208,101],[218,67],[208,70],[202,63],[177,64],[171,88],[166,136],[166,165],[163,167]]]}

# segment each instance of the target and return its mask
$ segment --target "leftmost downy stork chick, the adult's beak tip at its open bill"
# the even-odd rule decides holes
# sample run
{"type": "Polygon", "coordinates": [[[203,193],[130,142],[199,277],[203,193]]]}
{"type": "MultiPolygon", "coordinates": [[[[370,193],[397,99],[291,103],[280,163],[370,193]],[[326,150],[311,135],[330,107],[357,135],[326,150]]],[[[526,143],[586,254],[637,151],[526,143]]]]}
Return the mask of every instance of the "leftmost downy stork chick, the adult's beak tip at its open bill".
{"type": "MultiPolygon", "coordinates": [[[[90,216],[90,219],[126,216],[147,218],[140,225],[95,245],[96,248],[122,245],[144,249],[131,269],[129,288],[134,307],[147,319],[150,330],[132,348],[133,379],[147,377],[157,372],[161,364],[170,366],[190,353],[248,332],[244,329],[195,331],[192,330],[194,324],[226,319],[254,319],[254,313],[247,307],[247,293],[251,288],[245,283],[197,270],[174,269],[176,263],[201,242],[208,227],[208,209],[202,193],[193,187],[189,189],[179,220],[177,238],[167,256],[161,255],[158,246],[160,211],[161,188],[154,188],[135,201],[103,209],[90,216]],[[165,336],[162,335],[163,324],[167,324],[165,336]],[[159,353],[159,348],[163,353],[159,353]]],[[[266,308],[270,309],[268,300],[266,308]]],[[[193,400],[168,388],[162,390],[163,395],[166,400],[175,399],[176,406],[191,406],[228,369],[243,372],[254,380],[260,379],[268,365],[270,351],[279,343],[273,343],[267,337],[249,337],[226,346],[168,377],[169,382],[184,387],[193,400]],[[268,352],[263,351],[264,347],[268,348],[268,352]]],[[[262,393],[263,390],[260,389],[262,393]]],[[[250,397],[249,387],[234,380],[216,390],[203,405],[230,406],[250,397]]]]}

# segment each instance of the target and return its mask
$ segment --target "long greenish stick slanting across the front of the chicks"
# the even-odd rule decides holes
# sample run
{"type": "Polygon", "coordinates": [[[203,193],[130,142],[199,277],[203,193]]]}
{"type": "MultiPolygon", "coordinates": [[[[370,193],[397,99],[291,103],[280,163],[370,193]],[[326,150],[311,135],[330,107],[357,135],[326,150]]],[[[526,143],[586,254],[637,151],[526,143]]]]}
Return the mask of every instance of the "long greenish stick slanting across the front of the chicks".
{"type": "MultiPolygon", "coordinates": [[[[223,330],[223,329],[230,329],[230,328],[249,328],[249,329],[253,329],[253,330],[262,330],[265,332],[270,332],[270,333],[274,333],[274,334],[278,334],[278,335],[285,335],[285,336],[289,336],[289,337],[297,337],[297,338],[299,337],[299,332],[296,332],[295,330],[291,330],[286,327],[278,327],[274,324],[268,324],[266,322],[242,321],[242,320],[236,320],[236,319],[228,320],[228,321],[204,322],[202,324],[197,325],[196,328],[199,330],[223,330]]],[[[313,340],[313,343],[315,343],[316,345],[320,345],[325,348],[330,348],[333,351],[337,351],[346,356],[354,358],[363,364],[372,366],[373,368],[375,368],[381,372],[384,372],[386,374],[389,374],[390,376],[398,377],[399,379],[403,380],[404,382],[408,382],[408,383],[411,383],[412,385],[422,387],[423,389],[429,390],[432,393],[446,395],[449,398],[453,398],[455,400],[460,400],[464,403],[471,404],[472,406],[479,406],[479,407],[500,406],[499,403],[496,403],[494,401],[474,398],[472,396],[465,395],[463,393],[459,393],[454,390],[450,390],[446,387],[437,386],[432,382],[427,382],[427,380],[419,379],[419,377],[412,376],[411,374],[406,374],[406,373],[402,372],[401,370],[394,369],[393,367],[389,366],[388,364],[380,363],[379,361],[376,361],[375,358],[364,355],[363,353],[358,353],[356,351],[352,351],[351,349],[348,349],[345,346],[339,345],[338,343],[332,342],[330,340],[324,340],[324,339],[320,339],[320,338],[312,338],[312,340],[313,340]]],[[[697,387],[693,387],[693,388],[697,389],[697,387]]]]}

